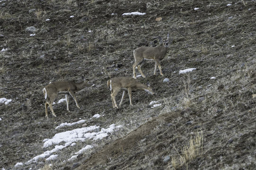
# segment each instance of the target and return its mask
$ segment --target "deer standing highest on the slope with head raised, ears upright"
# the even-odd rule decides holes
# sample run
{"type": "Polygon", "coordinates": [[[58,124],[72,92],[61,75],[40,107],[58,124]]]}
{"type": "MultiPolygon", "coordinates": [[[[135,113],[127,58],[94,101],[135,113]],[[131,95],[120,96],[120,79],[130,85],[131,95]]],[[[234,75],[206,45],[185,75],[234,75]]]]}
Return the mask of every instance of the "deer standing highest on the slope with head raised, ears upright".
{"type": "Polygon", "coordinates": [[[169,34],[167,34],[167,40],[163,41],[161,37],[159,37],[160,41],[163,42],[163,46],[159,46],[159,47],[139,47],[136,48],[133,51],[133,56],[135,59],[135,63],[132,65],[132,70],[133,70],[133,78],[136,79],[136,72],[135,72],[135,68],[137,67],[139,72],[141,73],[142,77],[146,77],[142,71],[141,71],[141,66],[143,65],[145,60],[153,60],[155,61],[155,71],[154,71],[154,75],[156,75],[156,70],[157,70],[157,66],[159,68],[160,71],[160,75],[164,76],[162,73],[162,69],[161,69],[161,65],[160,65],[160,60],[162,60],[167,51],[168,51],[168,42],[169,42],[169,34]]]}

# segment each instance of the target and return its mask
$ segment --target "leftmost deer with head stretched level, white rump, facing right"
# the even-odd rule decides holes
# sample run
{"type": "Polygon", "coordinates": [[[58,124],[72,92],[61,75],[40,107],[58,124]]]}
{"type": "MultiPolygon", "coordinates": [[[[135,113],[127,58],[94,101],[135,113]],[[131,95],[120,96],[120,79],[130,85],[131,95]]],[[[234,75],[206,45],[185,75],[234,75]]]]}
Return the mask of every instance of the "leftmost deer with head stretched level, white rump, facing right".
{"type": "Polygon", "coordinates": [[[58,96],[58,94],[65,94],[66,103],[67,103],[67,110],[69,110],[69,94],[73,97],[74,101],[76,102],[77,107],[80,109],[77,98],[75,96],[75,93],[79,90],[82,90],[85,87],[94,86],[93,83],[91,83],[89,80],[83,81],[81,83],[73,83],[71,81],[59,81],[55,83],[51,83],[49,85],[46,85],[43,88],[44,92],[44,98],[46,99],[45,102],[45,117],[48,118],[47,113],[47,104],[50,107],[50,110],[53,113],[53,116],[56,117],[54,111],[53,111],[53,101],[58,96]]]}

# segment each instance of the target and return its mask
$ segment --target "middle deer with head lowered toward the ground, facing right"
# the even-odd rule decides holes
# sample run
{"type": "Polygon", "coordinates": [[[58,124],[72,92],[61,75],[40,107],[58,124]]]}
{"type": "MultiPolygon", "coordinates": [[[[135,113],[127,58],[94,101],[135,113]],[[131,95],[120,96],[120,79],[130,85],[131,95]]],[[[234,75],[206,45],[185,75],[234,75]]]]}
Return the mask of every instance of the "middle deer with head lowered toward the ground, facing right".
{"type": "MultiPolygon", "coordinates": [[[[110,80],[107,81],[107,87],[111,91],[111,100],[112,100],[112,105],[113,108],[118,108],[117,104],[115,102],[115,96],[120,90],[123,90],[123,96],[121,99],[121,102],[119,106],[121,106],[125,94],[128,92],[129,99],[130,99],[130,105],[132,105],[132,92],[137,91],[137,90],[144,90],[150,94],[154,94],[152,89],[144,84],[141,84],[137,80],[134,80],[132,77],[114,77],[111,78],[110,80]]],[[[132,105],[133,106],[133,105],[132,105]]]]}

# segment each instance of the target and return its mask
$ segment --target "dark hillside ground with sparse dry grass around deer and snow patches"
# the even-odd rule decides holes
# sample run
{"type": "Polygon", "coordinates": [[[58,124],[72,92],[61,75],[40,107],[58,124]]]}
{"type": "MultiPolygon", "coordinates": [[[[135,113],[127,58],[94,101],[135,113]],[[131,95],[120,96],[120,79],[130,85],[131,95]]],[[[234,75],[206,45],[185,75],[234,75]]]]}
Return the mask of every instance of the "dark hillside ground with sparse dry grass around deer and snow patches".
{"type": "MultiPolygon", "coordinates": [[[[255,169],[255,21],[255,0],[0,1],[0,50],[7,49],[0,52],[0,98],[12,99],[0,103],[0,168],[255,169]],[[146,15],[122,16],[135,11],[146,15]],[[36,31],[27,32],[29,26],[36,31]],[[159,45],[154,37],[168,33],[172,43],[161,60],[164,76],[158,69],[153,76],[154,62],[147,61],[141,68],[146,78],[138,78],[149,81],[156,94],[132,93],[133,107],[127,97],[120,109],[112,109],[106,81],[132,76],[132,51],[159,45]],[[186,68],[196,70],[179,74],[186,68]],[[53,107],[56,118],[45,119],[43,87],[59,80],[79,82],[82,76],[96,88],[76,94],[81,109],[70,100],[70,113],[62,103],[53,107]],[[170,81],[163,83],[164,78],[170,81]],[[151,108],[151,101],[162,105],[151,108]],[[94,114],[105,116],[89,119],[94,114]],[[87,126],[124,127],[75,161],[67,159],[85,143],[58,153],[55,161],[14,168],[43,153],[43,140],[61,132],[56,126],[79,118],[87,119],[87,126]],[[203,147],[181,163],[198,132],[203,147]]],[[[116,98],[120,101],[121,93],[116,98]]]]}

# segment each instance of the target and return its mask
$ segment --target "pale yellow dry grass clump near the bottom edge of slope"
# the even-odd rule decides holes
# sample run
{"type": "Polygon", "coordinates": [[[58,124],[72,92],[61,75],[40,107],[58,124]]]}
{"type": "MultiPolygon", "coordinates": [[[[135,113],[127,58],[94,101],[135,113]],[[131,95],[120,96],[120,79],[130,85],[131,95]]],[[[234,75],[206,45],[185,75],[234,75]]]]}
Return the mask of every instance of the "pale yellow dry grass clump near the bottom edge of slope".
{"type": "MultiPolygon", "coordinates": [[[[176,149],[177,151],[177,149],[176,149]]],[[[176,170],[184,165],[188,166],[188,162],[194,160],[203,153],[203,132],[198,132],[195,138],[189,140],[189,145],[181,149],[181,154],[177,151],[178,156],[172,156],[172,167],[176,170]]]]}

